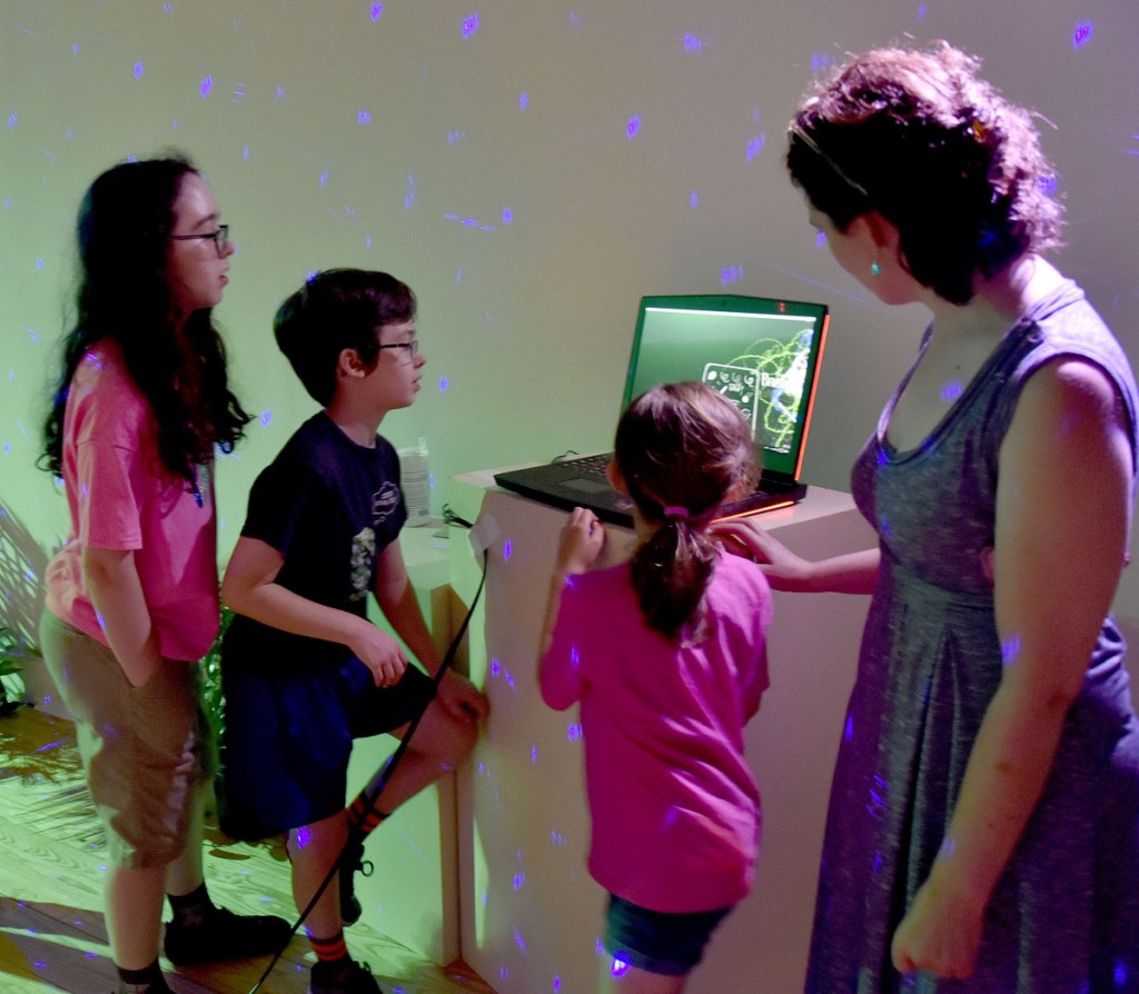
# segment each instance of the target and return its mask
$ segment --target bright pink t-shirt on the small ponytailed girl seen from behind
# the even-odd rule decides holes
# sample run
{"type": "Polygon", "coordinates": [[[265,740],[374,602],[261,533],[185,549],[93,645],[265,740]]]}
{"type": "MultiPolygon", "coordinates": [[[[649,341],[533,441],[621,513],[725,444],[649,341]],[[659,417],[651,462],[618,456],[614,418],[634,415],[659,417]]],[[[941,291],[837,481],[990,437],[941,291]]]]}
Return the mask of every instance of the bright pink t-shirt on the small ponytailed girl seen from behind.
{"type": "Polygon", "coordinates": [[[581,701],[590,873],[653,911],[728,907],[755,874],[744,724],[768,685],[771,592],[721,556],[706,605],[707,638],[680,646],[645,625],[628,564],[572,576],[542,663],[546,703],[581,701]]]}

